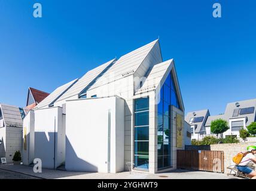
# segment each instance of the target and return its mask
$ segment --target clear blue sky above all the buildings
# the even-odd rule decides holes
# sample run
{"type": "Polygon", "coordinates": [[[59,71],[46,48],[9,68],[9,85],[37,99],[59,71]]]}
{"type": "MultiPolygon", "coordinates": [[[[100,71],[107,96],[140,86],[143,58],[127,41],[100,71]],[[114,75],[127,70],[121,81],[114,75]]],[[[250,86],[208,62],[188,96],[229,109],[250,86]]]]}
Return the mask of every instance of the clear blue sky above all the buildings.
{"type": "Polygon", "coordinates": [[[255,0],[0,0],[0,102],[24,106],[28,87],[50,93],[159,36],[186,112],[215,115],[256,98],[255,0]],[[41,19],[32,16],[35,2],[41,19]],[[212,17],[214,2],[221,19],[212,17]]]}

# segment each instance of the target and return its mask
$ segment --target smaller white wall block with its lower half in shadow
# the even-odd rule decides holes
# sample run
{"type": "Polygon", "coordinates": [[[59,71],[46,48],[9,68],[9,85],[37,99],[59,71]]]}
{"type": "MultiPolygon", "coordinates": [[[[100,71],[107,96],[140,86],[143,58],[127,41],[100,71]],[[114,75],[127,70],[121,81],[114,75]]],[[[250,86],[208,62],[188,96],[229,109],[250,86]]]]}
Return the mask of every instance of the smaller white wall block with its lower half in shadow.
{"type": "Polygon", "coordinates": [[[57,168],[65,155],[62,108],[35,110],[35,158],[42,160],[43,168],[57,168]],[[62,134],[62,135],[59,135],[62,134]],[[55,164],[54,164],[55,156],[55,164]]]}

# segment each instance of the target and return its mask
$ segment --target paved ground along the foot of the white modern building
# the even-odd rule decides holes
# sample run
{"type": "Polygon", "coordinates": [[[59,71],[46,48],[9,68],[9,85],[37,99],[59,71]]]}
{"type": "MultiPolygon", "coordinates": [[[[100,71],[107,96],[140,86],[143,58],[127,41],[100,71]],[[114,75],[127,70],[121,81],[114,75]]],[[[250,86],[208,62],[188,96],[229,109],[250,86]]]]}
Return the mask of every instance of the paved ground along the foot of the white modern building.
{"type": "Polygon", "coordinates": [[[34,177],[53,179],[228,179],[226,174],[220,174],[215,172],[203,172],[203,171],[186,171],[175,170],[170,172],[164,172],[159,174],[149,174],[146,172],[120,172],[117,174],[105,174],[98,172],[71,172],[60,170],[42,169],[42,173],[33,172],[32,167],[24,165],[0,165],[0,170],[8,170],[13,172],[20,172],[26,175],[32,175],[34,177]]]}

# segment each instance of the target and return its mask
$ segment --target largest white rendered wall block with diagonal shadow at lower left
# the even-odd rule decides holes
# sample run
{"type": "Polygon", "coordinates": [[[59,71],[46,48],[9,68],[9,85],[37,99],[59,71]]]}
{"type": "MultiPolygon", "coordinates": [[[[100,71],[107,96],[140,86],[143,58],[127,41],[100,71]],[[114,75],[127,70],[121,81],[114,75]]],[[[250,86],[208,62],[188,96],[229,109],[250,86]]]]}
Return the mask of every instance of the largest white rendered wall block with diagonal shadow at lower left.
{"type": "Polygon", "coordinates": [[[117,97],[66,102],[66,170],[108,172],[109,110],[110,172],[124,170],[124,101],[117,97]]]}

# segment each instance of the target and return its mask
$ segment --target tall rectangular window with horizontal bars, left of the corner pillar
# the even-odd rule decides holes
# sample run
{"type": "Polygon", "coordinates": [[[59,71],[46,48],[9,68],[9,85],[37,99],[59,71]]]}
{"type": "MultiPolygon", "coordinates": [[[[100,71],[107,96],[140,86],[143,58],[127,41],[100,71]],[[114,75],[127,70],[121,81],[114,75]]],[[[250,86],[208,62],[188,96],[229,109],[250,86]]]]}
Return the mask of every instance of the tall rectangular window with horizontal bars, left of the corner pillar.
{"type": "Polygon", "coordinates": [[[149,98],[135,100],[135,168],[148,169],[149,98]]]}

